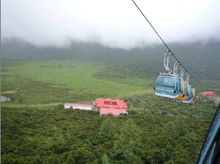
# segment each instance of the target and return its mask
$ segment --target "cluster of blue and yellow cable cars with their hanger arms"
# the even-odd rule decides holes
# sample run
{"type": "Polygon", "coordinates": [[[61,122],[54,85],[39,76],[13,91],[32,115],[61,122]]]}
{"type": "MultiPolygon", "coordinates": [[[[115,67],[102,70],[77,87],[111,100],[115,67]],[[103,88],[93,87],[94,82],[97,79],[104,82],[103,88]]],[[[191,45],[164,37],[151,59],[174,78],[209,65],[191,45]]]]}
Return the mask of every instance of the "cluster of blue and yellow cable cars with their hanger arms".
{"type": "Polygon", "coordinates": [[[176,99],[184,103],[190,103],[195,99],[195,89],[189,85],[189,74],[180,70],[178,74],[179,63],[176,61],[173,70],[169,68],[169,57],[171,53],[167,50],[164,54],[164,67],[166,73],[160,73],[154,85],[155,95],[176,99]],[[185,75],[185,80],[184,80],[185,75]]]}

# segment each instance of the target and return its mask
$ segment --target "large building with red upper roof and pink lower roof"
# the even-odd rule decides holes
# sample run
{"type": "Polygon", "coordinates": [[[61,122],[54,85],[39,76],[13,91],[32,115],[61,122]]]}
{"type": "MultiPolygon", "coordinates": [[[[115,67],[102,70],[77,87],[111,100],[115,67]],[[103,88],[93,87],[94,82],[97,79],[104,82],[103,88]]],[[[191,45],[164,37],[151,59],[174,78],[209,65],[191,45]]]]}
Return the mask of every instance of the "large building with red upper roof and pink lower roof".
{"type": "Polygon", "coordinates": [[[100,116],[112,114],[113,116],[127,115],[128,105],[121,99],[97,98],[95,105],[100,116]]]}

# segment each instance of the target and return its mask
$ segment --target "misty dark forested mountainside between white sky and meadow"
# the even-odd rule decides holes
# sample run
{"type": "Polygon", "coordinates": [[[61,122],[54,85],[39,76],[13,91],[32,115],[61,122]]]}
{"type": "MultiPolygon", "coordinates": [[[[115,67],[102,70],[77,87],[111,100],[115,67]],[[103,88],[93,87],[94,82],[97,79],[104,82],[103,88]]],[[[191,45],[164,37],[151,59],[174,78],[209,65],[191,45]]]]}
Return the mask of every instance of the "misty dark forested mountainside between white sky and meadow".
{"type": "MultiPolygon", "coordinates": [[[[220,42],[206,44],[170,43],[169,46],[182,63],[202,79],[220,80],[220,42]]],[[[101,62],[107,65],[126,65],[129,72],[146,77],[163,71],[162,44],[131,49],[111,48],[95,42],[71,42],[68,47],[37,47],[23,40],[4,39],[1,44],[3,59],[13,60],[70,60],[101,62]]]]}

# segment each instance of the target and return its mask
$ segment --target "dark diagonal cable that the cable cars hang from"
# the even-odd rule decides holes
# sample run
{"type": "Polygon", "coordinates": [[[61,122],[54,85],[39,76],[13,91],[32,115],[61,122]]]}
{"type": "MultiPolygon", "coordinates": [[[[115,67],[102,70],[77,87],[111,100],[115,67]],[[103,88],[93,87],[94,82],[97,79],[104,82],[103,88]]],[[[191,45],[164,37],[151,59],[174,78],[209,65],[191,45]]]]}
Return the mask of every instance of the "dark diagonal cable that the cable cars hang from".
{"type": "Polygon", "coordinates": [[[197,82],[199,82],[201,84],[201,81],[199,79],[197,79],[192,73],[190,73],[188,71],[188,69],[179,61],[179,59],[174,55],[174,53],[172,52],[172,50],[168,47],[168,45],[166,44],[166,42],[163,40],[163,38],[160,36],[160,34],[157,32],[157,30],[154,28],[154,26],[151,24],[151,22],[149,21],[149,19],[145,16],[145,14],[143,13],[143,11],[140,9],[140,7],[137,5],[137,3],[132,0],[132,2],[134,3],[134,5],[136,6],[136,8],[140,11],[140,13],[142,14],[142,16],[145,18],[145,20],[148,22],[148,24],[151,26],[151,28],[154,30],[154,32],[157,34],[157,36],[160,38],[160,40],[162,41],[162,43],[164,44],[164,46],[167,48],[167,50],[170,52],[170,54],[174,57],[174,59],[179,63],[179,65],[185,70],[185,72],[187,72],[188,74],[191,75],[191,77],[193,77],[197,82]]]}

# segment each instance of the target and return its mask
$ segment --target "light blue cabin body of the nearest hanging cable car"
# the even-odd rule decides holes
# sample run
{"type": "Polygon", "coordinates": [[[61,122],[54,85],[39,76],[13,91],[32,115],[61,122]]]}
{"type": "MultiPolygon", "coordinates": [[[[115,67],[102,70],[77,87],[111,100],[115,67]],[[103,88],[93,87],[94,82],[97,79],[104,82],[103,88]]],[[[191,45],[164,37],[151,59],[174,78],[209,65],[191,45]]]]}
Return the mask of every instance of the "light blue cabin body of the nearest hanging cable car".
{"type": "Polygon", "coordinates": [[[181,79],[173,74],[160,74],[154,86],[155,95],[175,99],[181,95],[181,79]]]}

